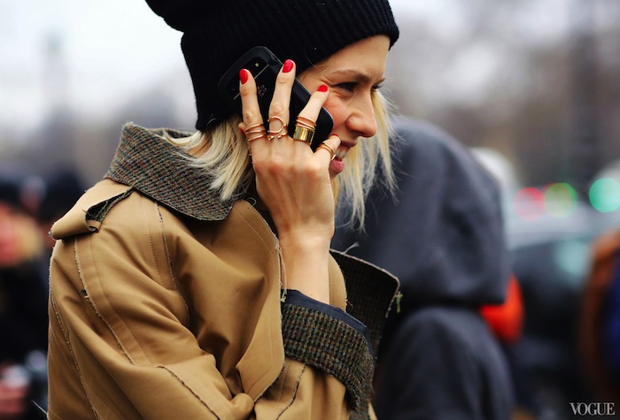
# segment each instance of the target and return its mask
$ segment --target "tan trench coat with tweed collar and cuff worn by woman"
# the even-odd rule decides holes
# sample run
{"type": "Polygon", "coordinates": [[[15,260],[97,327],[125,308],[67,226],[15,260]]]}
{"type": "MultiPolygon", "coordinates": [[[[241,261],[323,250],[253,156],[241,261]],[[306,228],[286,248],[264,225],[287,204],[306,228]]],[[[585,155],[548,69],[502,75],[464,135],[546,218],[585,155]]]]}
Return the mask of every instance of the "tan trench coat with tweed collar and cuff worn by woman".
{"type": "Polygon", "coordinates": [[[372,416],[398,281],[334,253],[331,306],[283,294],[254,201],[219,202],[177,152],[126,126],[107,179],[52,228],[50,418],[372,416]]]}

